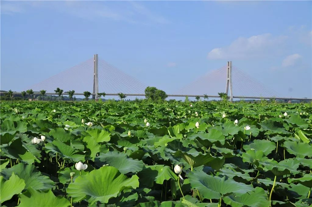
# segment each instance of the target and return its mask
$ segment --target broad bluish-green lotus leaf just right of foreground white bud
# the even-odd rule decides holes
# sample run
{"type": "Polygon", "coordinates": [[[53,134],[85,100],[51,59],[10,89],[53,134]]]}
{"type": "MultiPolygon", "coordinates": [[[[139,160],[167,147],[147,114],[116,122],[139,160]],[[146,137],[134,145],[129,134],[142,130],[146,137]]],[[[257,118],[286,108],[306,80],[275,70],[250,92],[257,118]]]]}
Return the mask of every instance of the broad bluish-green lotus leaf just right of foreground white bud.
{"type": "Polygon", "coordinates": [[[226,195],[241,196],[254,190],[252,185],[227,179],[226,176],[210,176],[203,171],[188,174],[192,188],[196,188],[207,199],[220,199],[226,195]]]}

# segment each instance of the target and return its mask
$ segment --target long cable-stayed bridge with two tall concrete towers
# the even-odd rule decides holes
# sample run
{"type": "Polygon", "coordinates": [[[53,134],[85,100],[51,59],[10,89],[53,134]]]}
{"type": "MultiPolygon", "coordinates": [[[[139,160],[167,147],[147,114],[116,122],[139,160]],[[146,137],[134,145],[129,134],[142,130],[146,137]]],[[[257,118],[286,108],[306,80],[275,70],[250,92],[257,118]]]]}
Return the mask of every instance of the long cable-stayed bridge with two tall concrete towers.
{"type": "MultiPolygon", "coordinates": [[[[93,58],[29,86],[24,90],[32,89],[35,91],[34,94],[38,94],[40,90],[46,90],[46,95],[55,95],[54,90],[57,87],[64,90],[64,95],[68,94],[66,92],[69,90],[75,90],[75,95],[83,95],[83,91],[92,91],[93,98],[97,99],[99,92],[105,92],[106,96],[116,96],[118,93],[123,93],[127,96],[145,96],[144,90],[147,85],[110,65],[105,60],[98,58],[98,55],[95,54],[93,58]]],[[[168,96],[196,97],[198,95],[204,97],[204,94],[207,94],[208,97],[219,98],[218,92],[227,93],[231,101],[233,98],[312,100],[280,97],[276,91],[267,88],[244,71],[232,66],[231,61],[228,61],[227,65],[217,70],[202,75],[178,91],[168,94],[168,96]]]]}

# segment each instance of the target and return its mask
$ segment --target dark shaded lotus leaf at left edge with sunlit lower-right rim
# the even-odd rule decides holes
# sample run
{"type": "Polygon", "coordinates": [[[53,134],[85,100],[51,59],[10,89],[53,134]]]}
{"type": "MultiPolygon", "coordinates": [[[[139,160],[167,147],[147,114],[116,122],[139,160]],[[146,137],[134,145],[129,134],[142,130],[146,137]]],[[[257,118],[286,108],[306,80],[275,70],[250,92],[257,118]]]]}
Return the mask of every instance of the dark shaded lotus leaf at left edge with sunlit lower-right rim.
{"type": "Polygon", "coordinates": [[[34,161],[40,162],[36,156],[34,156],[31,152],[28,152],[27,149],[23,147],[21,138],[14,140],[10,146],[1,146],[1,150],[6,156],[18,159],[29,165],[31,165],[34,161]]]}

